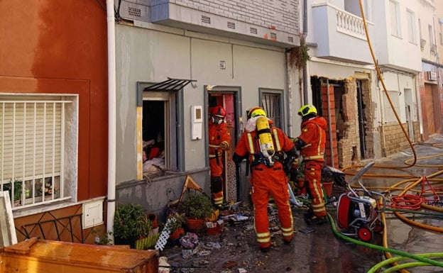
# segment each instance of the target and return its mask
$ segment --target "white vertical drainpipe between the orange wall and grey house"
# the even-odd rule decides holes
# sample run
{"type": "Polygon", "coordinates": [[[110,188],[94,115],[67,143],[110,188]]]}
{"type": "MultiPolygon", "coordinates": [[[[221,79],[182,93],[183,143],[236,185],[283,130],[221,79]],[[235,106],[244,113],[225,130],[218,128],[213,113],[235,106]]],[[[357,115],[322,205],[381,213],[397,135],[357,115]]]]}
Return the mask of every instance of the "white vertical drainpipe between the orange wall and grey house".
{"type": "Polygon", "coordinates": [[[106,232],[114,239],[116,208],[116,60],[114,0],[106,0],[108,30],[108,199],[106,232]]]}

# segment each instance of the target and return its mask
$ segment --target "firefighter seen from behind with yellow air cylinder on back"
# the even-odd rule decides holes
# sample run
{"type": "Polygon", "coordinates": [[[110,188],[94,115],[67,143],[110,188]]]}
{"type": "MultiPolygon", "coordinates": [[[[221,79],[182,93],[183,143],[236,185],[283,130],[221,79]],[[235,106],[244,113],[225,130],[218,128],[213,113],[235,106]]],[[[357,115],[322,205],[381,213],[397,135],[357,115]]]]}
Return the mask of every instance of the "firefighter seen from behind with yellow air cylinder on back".
{"type": "Polygon", "coordinates": [[[290,244],[294,237],[287,186],[288,177],[283,170],[283,152],[288,156],[297,157],[294,144],[282,130],[274,127],[273,122],[266,118],[263,108],[251,108],[248,111],[248,121],[244,133],[235,147],[232,160],[236,165],[239,165],[244,159],[250,162],[251,178],[249,182],[251,183],[251,198],[254,206],[254,224],[258,246],[263,252],[267,252],[270,247],[268,220],[270,196],[273,197],[278,208],[283,242],[290,244]],[[268,137],[269,143],[263,135],[268,137]]]}

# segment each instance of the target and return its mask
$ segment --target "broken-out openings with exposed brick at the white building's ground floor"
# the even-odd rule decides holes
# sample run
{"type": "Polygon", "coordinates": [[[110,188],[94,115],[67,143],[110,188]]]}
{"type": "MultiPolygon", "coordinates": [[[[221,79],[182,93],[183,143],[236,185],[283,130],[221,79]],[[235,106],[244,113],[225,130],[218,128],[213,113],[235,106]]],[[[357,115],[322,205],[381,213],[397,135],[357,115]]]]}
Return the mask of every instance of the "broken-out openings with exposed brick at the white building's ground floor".
{"type": "Polygon", "coordinates": [[[343,168],[373,157],[369,80],[311,77],[312,103],[328,123],[326,161],[343,168]]]}

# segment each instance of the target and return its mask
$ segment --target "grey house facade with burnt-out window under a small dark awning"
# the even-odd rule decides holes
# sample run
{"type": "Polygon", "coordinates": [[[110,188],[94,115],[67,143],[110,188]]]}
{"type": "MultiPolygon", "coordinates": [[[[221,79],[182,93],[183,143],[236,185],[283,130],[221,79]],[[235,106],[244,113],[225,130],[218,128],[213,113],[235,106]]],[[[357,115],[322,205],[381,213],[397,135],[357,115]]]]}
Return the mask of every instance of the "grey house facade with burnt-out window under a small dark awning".
{"type": "Polygon", "coordinates": [[[178,199],[187,174],[209,192],[215,105],[226,108],[231,130],[226,201],[247,196],[245,168],[231,161],[246,109],[263,106],[288,135],[300,124],[288,65],[288,49],[300,45],[298,1],[128,0],[118,10],[117,200],[159,211],[178,199]]]}

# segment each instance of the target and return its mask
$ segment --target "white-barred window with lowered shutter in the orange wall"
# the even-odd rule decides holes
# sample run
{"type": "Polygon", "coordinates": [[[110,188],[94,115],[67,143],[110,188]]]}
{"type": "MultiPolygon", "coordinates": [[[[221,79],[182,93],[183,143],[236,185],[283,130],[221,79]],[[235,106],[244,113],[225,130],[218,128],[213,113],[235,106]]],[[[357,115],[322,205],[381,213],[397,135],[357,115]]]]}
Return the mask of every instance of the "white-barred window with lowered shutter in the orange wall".
{"type": "Polygon", "coordinates": [[[70,199],[77,184],[77,96],[0,96],[0,183],[13,208],[70,199]]]}

